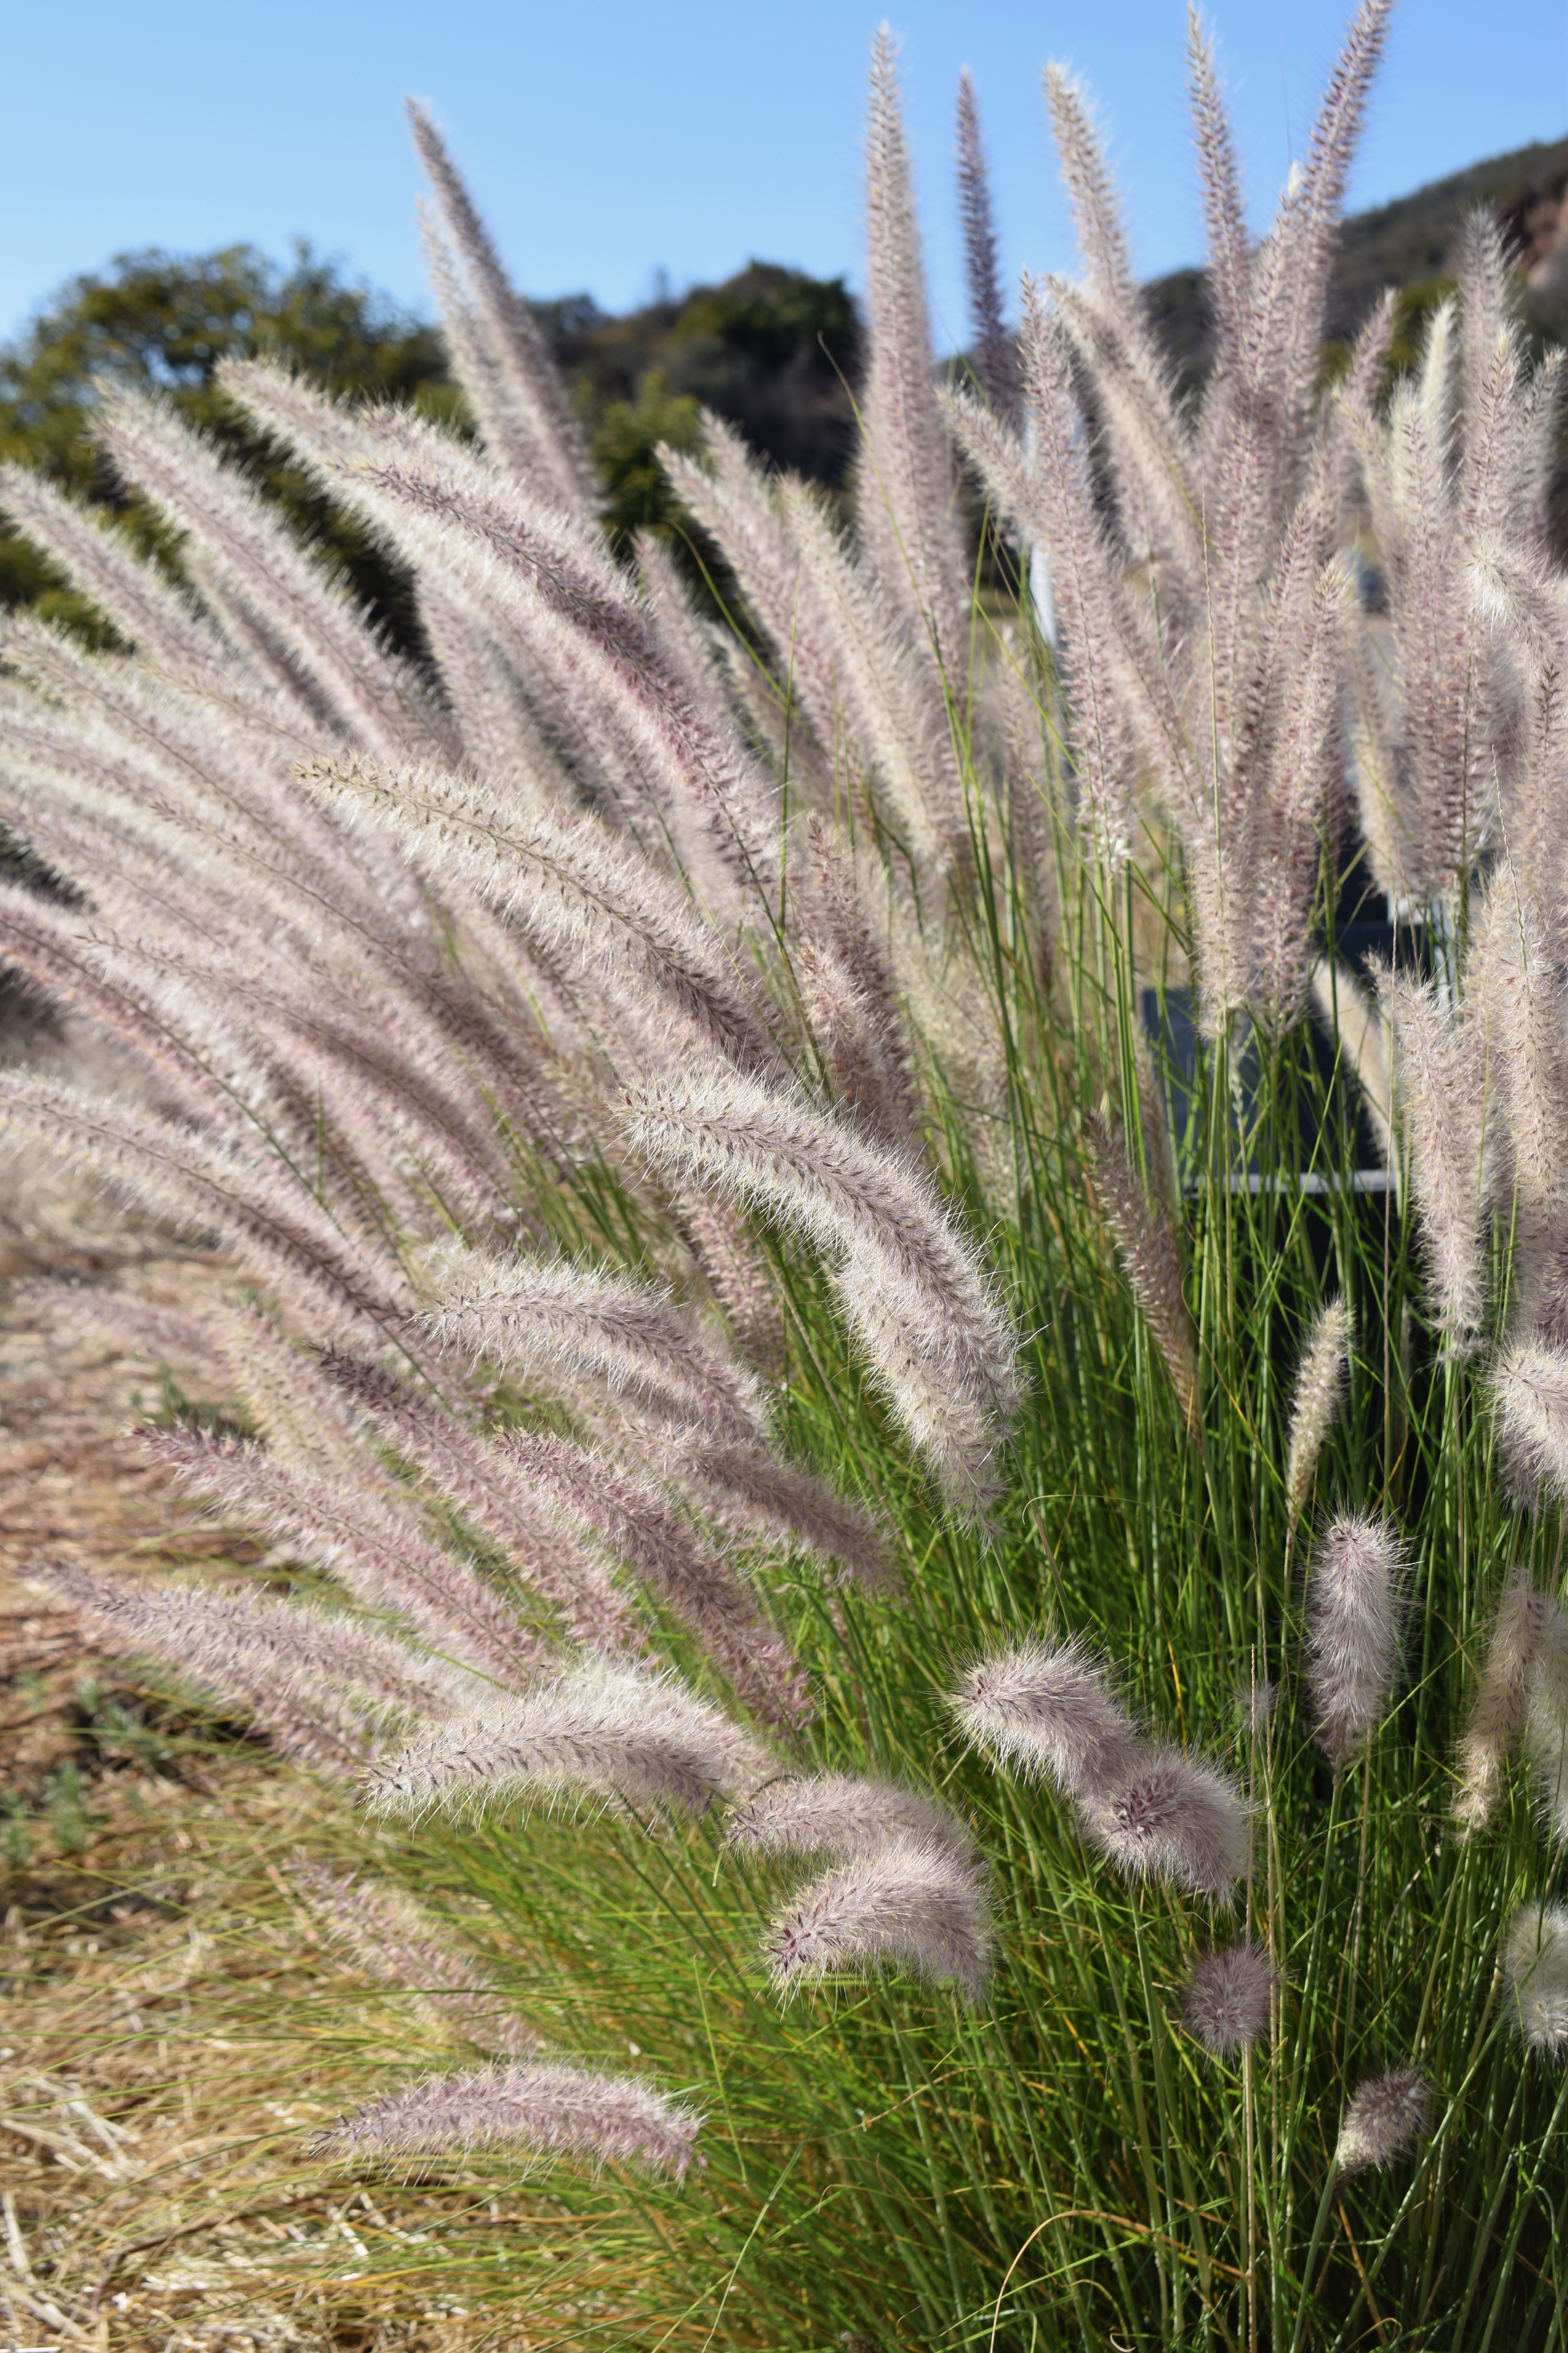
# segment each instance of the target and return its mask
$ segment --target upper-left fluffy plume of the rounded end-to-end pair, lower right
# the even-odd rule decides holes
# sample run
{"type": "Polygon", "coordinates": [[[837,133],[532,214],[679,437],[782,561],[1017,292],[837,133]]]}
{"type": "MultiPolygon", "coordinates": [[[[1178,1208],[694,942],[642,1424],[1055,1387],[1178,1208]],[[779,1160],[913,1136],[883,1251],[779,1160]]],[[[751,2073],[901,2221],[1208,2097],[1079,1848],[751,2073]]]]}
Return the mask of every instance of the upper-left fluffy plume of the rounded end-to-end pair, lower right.
{"type": "Polygon", "coordinates": [[[1001,1765],[1077,1798],[1119,1786],[1143,1753],[1084,1642],[1032,1638],[978,1659],[950,1699],[959,1729],[1001,1765]]]}

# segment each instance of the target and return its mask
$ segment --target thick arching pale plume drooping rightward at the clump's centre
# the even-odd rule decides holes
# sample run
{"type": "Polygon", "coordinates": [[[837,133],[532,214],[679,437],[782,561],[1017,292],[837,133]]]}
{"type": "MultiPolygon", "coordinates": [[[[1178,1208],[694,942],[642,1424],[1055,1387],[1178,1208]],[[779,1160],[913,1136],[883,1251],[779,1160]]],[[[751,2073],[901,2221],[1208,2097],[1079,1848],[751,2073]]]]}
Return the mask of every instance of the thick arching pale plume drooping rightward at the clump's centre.
{"type": "Polygon", "coordinates": [[[1016,1339],[931,1188],[783,1087],[689,1071],[628,1089],[628,1144],[839,1254],[835,1289],[954,1508],[983,1506],[1018,1400],[1016,1339]]]}

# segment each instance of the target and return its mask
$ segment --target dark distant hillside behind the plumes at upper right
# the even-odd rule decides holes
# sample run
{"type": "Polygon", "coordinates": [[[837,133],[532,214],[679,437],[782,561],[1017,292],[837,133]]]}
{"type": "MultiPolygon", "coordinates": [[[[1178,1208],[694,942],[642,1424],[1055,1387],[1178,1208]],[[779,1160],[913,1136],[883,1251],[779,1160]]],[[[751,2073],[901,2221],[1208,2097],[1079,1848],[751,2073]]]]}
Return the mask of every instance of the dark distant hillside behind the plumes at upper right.
{"type": "MultiPolygon", "coordinates": [[[[1528,332],[1535,341],[1568,344],[1568,139],[1472,162],[1392,205],[1352,214],[1340,228],[1331,336],[1352,336],[1385,287],[1401,289],[1401,325],[1413,336],[1420,315],[1448,289],[1465,216],[1479,205],[1500,214],[1519,254],[1528,332]]],[[[1145,296],[1180,376],[1199,381],[1213,355],[1206,273],[1154,278],[1145,296]]]]}

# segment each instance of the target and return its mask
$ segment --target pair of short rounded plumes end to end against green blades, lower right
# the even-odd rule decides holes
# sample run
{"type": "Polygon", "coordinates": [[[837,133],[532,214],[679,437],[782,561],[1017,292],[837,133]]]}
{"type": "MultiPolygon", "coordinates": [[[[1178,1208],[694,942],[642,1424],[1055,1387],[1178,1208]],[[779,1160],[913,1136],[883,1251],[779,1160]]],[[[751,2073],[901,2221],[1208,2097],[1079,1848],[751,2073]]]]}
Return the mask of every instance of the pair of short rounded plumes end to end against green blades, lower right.
{"type": "Polygon", "coordinates": [[[952,1697],[964,1734],[1072,1802],[1088,1845],[1131,1880],[1171,1880],[1215,1904],[1248,1868],[1234,1781],[1140,1734],[1081,1642],[1018,1642],[980,1659],[952,1697]]]}

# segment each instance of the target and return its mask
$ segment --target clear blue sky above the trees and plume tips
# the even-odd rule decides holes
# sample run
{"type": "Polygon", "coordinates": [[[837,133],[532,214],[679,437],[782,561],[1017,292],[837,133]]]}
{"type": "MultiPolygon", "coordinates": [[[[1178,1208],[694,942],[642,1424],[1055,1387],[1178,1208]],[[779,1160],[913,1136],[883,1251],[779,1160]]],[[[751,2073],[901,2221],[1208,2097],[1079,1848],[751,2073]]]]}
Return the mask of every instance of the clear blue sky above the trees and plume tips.
{"type": "MultiPolygon", "coordinates": [[[[418,301],[402,96],[428,99],[531,294],[623,308],[748,256],[858,278],[865,56],[886,0],[5,0],[0,334],[136,245],[294,235],[418,301]]],[[[1211,9],[1253,209],[1347,0],[1211,9]]],[[[896,0],[938,334],[961,334],[952,87],[976,73],[1009,275],[1058,268],[1039,68],[1098,92],[1154,275],[1197,254],[1182,0],[896,0]]],[[[1352,205],[1568,132],[1566,0],[1401,0],[1352,205]]]]}

